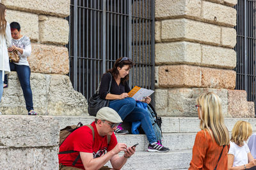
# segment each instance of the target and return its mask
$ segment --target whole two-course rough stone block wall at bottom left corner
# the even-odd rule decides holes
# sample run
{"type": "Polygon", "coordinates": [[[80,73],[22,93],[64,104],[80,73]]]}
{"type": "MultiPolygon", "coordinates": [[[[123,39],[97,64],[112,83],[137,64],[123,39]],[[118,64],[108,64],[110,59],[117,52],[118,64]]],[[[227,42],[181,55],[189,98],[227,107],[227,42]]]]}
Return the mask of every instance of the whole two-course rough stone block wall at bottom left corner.
{"type": "Polygon", "coordinates": [[[1,115],[0,169],[57,170],[59,132],[51,117],[1,115]]]}

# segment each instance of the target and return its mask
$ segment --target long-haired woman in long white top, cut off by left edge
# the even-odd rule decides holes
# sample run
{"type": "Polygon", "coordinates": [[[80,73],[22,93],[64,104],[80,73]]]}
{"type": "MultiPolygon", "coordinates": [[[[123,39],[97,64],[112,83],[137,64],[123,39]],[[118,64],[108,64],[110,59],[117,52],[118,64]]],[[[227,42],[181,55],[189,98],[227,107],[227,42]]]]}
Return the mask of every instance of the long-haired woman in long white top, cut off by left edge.
{"type": "Polygon", "coordinates": [[[6,7],[0,3],[0,101],[3,96],[4,72],[10,72],[7,47],[12,45],[10,25],[5,20],[6,7]]]}

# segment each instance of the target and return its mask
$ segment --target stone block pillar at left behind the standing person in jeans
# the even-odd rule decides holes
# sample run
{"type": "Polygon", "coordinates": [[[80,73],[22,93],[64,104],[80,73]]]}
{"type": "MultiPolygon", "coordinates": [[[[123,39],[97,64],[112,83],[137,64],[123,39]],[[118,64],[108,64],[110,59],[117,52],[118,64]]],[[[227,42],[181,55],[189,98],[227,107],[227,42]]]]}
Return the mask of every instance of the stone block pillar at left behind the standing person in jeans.
{"type": "MultiPolygon", "coordinates": [[[[21,34],[31,39],[31,89],[35,111],[39,115],[86,115],[87,103],[72,88],[69,72],[70,0],[2,0],[8,8],[6,20],[19,22],[21,34]]],[[[26,115],[26,105],[15,72],[9,76],[0,111],[3,114],[26,115]]]]}

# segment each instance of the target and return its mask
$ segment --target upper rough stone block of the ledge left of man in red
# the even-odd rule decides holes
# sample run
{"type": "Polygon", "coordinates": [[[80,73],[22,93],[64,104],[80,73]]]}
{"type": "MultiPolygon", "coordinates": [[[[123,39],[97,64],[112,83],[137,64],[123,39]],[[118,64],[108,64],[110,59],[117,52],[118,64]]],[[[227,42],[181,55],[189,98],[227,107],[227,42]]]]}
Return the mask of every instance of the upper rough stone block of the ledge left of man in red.
{"type": "Polygon", "coordinates": [[[51,117],[1,115],[0,146],[5,148],[57,146],[59,129],[58,121],[51,117]]]}

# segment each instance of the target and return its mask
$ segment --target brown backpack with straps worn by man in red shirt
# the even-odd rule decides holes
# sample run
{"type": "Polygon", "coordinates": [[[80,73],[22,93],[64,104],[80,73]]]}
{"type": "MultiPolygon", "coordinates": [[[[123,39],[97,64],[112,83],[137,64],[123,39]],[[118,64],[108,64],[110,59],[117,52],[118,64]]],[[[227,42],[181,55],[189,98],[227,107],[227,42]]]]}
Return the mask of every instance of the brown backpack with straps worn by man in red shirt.
{"type": "MultiPolygon", "coordinates": [[[[93,129],[92,125],[86,125],[86,126],[92,130],[92,141],[94,141],[94,129],[93,129]]],[[[81,122],[79,122],[77,125],[69,125],[69,126],[65,127],[64,129],[61,129],[60,130],[59,147],[72,132],[76,131],[76,129],[78,129],[80,127],[83,127],[83,124],[81,122]]],[[[108,145],[109,145],[111,136],[108,135],[107,138],[108,138],[108,145]]],[[[67,151],[59,152],[59,154],[67,154],[67,153],[74,153],[74,152],[77,152],[77,151],[67,150],[67,151]]],[[[80,158],[80,154],[78,154],[78,156],[72,163],[73,166],[75,166],[75,164],[76,164],[77,160],[79,160],[79,158],[80,158]]]]}

